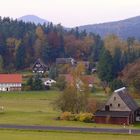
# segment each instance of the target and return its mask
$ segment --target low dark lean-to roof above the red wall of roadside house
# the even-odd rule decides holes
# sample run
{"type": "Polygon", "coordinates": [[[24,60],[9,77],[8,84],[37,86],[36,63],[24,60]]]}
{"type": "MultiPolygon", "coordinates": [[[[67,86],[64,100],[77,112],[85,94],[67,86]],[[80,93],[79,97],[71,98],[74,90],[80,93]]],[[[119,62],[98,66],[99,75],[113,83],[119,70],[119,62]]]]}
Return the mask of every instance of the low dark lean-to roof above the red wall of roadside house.
{"type": "Polygon", "coordinates": [[[128,117],[130,111],[97,111],[95,116],[98,117],[128,117]]]}

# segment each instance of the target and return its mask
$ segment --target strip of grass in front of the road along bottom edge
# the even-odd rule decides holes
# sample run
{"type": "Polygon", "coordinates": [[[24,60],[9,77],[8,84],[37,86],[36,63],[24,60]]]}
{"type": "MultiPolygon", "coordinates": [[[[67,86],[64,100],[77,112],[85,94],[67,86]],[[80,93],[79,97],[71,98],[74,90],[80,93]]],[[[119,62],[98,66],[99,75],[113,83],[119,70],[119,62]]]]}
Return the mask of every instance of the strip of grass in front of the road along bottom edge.
{"type": "Polygon", "coordinates": [[[139,140],[140,135],[0,130],[1,140],[139,140]]]}

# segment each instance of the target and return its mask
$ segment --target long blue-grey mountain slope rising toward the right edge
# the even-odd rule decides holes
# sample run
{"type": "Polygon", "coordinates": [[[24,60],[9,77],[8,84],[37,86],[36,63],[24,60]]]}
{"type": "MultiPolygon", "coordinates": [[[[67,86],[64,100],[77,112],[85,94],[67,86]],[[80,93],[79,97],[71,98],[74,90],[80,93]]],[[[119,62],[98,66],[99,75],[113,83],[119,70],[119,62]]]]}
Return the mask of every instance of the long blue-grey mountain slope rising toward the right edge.
{"type": "Polygon", "coordinates": [[[97,33],[102,37],[116,34],[124,39],[127,37],[140,39],[140,16],[115,22],[80,26],[79,29],[97,33]]]}

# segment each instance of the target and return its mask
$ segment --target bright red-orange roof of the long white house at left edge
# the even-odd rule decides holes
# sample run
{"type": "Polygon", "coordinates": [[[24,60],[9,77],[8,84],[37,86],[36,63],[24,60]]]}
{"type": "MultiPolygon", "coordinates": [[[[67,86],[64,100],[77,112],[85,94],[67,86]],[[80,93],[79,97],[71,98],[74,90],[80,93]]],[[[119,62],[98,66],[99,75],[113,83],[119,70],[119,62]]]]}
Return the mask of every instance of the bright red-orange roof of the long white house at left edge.
{"type": "Polygon", "coordinates": [[[0,74],[0,83],[22,83],[21,74],[0,74]]]}

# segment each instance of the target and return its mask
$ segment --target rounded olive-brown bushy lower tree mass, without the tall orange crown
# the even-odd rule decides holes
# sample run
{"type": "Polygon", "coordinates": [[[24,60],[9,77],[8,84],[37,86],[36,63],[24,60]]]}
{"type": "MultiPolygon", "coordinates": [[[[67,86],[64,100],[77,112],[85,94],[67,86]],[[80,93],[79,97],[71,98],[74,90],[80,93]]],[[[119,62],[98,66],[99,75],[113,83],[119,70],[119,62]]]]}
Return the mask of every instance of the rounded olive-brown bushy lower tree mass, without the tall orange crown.
{"type": "Polygon", "coordinates": [[[74,86],[68,86],[57,100],[57,107],[61,111],[80,113],[86,111],[87,94],[78,92],[74,86]]]}

